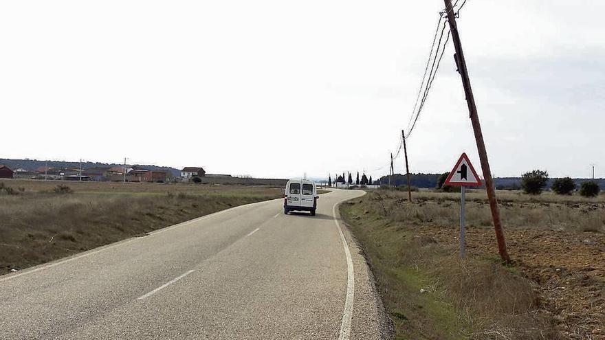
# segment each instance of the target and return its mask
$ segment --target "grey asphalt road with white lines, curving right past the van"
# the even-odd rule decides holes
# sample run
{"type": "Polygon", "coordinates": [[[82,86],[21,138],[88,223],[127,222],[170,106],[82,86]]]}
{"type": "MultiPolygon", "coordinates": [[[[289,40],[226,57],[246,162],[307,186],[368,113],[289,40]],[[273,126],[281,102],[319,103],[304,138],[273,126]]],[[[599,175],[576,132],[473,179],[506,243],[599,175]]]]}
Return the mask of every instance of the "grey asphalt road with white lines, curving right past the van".
{"type": "Polygon", "coordinates": [[[0,276],[1,339],[384,339],[360,251],[320,195],[243,205],[0,276]]]}

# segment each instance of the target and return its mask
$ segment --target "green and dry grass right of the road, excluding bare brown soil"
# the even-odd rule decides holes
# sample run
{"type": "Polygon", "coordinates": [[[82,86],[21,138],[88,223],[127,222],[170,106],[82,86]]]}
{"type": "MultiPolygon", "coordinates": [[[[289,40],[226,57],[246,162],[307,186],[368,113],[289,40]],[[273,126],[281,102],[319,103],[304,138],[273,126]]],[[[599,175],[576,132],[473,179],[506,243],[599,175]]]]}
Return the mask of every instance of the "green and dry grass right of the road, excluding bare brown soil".
{"type": "MultiPolygon", "coordinates": [[[[379,190],[341,207],[373,267],[397,339],[559,339],[539,308],[536,285],[519,269],[485,256],[461,261],[456,242],[438,242],[421,232],[428,225],[457,225],[459,206],[453,200],[459,194],[421,192],[415,205],[405,196],[379,190]]],[[[481,194],[467,196],[476,199],[467,206],[472,223],[491,225],[481,194]]],[[[518,207],[503,212],[503,219],[521,226],[544,214],[563,217],[554,215],[558,208],[545,213],[518,207]]],[[[571,226],[571,218],[562,225],[571,226]]]]}

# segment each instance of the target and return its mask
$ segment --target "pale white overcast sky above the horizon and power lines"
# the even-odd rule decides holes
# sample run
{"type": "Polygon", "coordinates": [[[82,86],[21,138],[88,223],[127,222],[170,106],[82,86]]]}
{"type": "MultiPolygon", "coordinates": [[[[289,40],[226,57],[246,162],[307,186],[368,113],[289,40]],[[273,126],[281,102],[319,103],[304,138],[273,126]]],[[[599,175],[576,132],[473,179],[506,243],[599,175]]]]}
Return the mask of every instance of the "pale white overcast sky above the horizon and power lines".
{"type": "MultiPolygon", "coordinates": [[[[408,124],[442,9],[2,1],[0,158],[377,178],[408,124]]],[[[459,32],[496,176],[588,177],[597,163],[605,177],[604,12],[599,0],[467,1],[459,32]]],[[[461,152],[479,168],[453,53],[450,41],[408,141],[411,172],[448,171],[461,152]]]]}

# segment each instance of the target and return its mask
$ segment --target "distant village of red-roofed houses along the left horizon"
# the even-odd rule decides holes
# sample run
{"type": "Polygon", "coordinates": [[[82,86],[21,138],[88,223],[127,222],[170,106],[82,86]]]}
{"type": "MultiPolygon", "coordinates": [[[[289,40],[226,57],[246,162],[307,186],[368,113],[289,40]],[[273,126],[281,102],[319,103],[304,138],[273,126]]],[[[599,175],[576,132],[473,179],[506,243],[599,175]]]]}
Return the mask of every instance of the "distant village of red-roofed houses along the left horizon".
{"type": "Polygon", "coordinates": [[[181,175],[175,177],[167,170],[150,170],[140,166],[112,166],[94,168],[53,168],[41,166],[36,170],[23,168],[11,169],[0,165],[0,178],[3,179],[51,179],[61,181],[112,181],[112,182],[188,182],[202,177],[228,178],[229,174],[206,174],[203,168],[186,167],[181,175]]]}

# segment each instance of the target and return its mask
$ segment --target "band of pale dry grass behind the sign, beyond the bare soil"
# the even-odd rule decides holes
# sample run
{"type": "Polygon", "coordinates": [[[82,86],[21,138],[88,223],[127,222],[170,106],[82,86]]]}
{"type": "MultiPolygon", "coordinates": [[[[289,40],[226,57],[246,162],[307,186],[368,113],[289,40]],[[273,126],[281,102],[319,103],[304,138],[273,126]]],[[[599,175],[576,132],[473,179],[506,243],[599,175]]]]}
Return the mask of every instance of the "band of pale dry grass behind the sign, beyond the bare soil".
{"type": "MultiPolygon", "coordinates": [[[[413,196],[415,202],[412,204],[399,192],[380,190],[375,192],[374,197],[382,201],[379,209],[386,209],[389,217],[398,222],[434,226],[452,226],[459,223],[460,194],[416,193],[413,196]],[[399,209],[400,207],[404,209],[399,209]]],[[[527,196],[499,192],[498,201],[500,215],[507,228],[605,231],[605,201],[602,197],[585,199],[555,194],[527,196]]],[[[492,227],[492,214],[485,192],[467,194],[466,212],[466,223],[469,227],[492,227]]]]}

